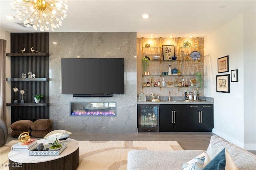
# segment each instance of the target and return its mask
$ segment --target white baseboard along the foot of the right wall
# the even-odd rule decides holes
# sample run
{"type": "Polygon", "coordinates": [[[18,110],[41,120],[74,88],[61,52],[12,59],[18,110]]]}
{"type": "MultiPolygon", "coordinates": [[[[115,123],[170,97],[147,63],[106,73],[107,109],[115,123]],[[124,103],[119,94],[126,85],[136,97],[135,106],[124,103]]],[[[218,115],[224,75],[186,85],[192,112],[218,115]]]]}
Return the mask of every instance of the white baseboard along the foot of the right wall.
{"type": "Polygon", "coordinates": [[[212,132],[218,136],[220,136],[221,138],[224,138],[225,140],[227,140],[228,142],[230,143],[233,143],[241,148],[244,148],[245,150],[256,150],[256,143],[253,144],[246,144],[246,143],[243,143],[243,142],[240,142],[230,136],[228,136],[227,134],[224,134],[222,132],[220,132],[219,130],[216,130],[216,129],[212,129],[212,132]]]}

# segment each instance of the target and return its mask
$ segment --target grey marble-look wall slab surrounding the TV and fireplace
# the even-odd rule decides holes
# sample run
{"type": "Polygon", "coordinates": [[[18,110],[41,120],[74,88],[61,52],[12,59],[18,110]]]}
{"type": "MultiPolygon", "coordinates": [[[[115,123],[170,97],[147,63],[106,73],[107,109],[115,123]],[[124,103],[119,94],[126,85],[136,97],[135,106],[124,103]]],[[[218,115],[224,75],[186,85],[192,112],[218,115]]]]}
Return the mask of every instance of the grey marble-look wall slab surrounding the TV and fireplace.
{"type": "Polygon", "coordinates": [[[137,132],[137,74],[134,56],[136,32],[50,33],[50,119],[54,129],[89,133],[137,132]],[[113,97],[73,97],[62,94],[61,58],[77,56],[124,58],[124,94],[113,97]],[[118,114],[115,117],[71,117],[71,101],[116,102],[118,114]]]}

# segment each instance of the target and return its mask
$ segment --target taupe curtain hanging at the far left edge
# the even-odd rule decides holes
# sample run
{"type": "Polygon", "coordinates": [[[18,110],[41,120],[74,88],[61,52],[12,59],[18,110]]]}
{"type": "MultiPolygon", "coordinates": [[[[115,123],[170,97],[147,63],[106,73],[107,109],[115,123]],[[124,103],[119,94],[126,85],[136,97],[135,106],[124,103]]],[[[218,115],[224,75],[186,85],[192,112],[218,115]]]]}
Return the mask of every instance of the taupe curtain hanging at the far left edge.
{"type": "Polygon", "coordinates": [[[0,39],[0,118],[6,123],[6,40],[0,39]]]}

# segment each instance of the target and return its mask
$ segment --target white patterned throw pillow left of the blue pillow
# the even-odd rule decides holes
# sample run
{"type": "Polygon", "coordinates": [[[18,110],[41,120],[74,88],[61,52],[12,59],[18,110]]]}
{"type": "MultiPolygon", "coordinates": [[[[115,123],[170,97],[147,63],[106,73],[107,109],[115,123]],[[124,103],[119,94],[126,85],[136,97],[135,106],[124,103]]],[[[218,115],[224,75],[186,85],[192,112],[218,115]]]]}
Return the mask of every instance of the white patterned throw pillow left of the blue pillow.
{"type": "Polygon", "coordinates": [[[206,151],[182,165],[182,170],[202,170],[206,151]]]}

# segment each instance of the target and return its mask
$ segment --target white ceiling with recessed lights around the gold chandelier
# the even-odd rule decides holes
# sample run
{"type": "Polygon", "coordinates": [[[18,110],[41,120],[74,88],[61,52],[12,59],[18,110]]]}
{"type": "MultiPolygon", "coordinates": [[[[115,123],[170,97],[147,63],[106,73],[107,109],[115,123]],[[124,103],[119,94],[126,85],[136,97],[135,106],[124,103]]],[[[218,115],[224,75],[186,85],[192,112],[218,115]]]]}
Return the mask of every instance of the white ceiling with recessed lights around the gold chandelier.
{"type": "MultiPolygon", "coordinates": [[[[0,28],[40,32],[17,24],[10,0],[0,0],[0,28]]],[[[256,0],[67,0],[67,17],[54,32],[137,32],[137,37],[205,37],[239,14],[256,11],[256,0]],[[142,14],[149,14],[148,19],[142,14]]],[[[49,31],[52,32],[52,31],[49,31]]]]}

